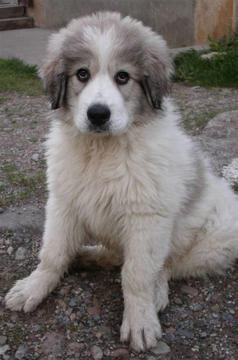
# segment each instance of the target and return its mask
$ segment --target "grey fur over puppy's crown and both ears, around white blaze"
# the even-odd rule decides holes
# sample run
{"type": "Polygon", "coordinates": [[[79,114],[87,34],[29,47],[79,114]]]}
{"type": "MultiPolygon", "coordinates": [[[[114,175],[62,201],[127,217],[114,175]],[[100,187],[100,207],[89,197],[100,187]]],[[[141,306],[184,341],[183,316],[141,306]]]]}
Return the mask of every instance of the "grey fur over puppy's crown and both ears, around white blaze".
{"type": "Polygon", "coordinates": [[[112,12],[74,19],[52,36],[49,55],[39,72],[52,108],[64,104],[65,85],[67,78],[73,75],[73,63],[99,61],[95,53],[95,34],[107,33],[113,39],[109,54],[111,63],[117,67],[131,64],[134,78],[143,86],[151,107],[161,108],[163,97],[171,88],[173,67],[165,41],[141,22],[112,12]]]}

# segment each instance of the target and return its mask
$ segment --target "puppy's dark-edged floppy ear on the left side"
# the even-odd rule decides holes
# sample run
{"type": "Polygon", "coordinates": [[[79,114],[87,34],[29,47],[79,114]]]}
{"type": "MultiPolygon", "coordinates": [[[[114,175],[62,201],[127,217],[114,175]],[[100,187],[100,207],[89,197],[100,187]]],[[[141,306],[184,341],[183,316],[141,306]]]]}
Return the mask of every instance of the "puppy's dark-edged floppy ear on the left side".
{"type": "Polygon", "coordinates": [[[63,105],[66,87],[66,75],[60,60],[46,59],[39,75],[43,80],[45,92],[50,98],[52,109],[58,109],[63,105]]]}

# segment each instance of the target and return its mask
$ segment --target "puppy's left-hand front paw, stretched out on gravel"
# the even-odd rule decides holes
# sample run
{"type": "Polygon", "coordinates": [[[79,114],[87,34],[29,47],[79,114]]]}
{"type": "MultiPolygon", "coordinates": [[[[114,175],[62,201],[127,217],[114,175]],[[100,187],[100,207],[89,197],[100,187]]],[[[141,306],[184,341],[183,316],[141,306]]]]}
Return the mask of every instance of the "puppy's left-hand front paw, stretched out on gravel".
{"type": "MultiPolygon", "coordinates": [[[[33,275],[33,274],[32,274],[33,275]]],[[[4,299],[6,307],[12,311],[30,312],[43,300],[44,291],[39,282],[30,275],[18,280],[15,286],[7,293],[4,299]]]]}

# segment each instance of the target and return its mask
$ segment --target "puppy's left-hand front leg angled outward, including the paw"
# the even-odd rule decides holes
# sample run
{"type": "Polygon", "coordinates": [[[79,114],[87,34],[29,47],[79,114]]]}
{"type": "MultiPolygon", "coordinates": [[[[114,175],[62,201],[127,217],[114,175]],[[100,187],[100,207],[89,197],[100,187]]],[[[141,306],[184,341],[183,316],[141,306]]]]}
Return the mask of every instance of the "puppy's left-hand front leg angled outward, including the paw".
{"type": "Polygon", "coordinates": [[[82,245],[75,212],[58,199],[48,201],[41,263],[23,280],[18,280],[5,297],[11,310],[34,310],[56,287],[72,257],[82,245]]]}

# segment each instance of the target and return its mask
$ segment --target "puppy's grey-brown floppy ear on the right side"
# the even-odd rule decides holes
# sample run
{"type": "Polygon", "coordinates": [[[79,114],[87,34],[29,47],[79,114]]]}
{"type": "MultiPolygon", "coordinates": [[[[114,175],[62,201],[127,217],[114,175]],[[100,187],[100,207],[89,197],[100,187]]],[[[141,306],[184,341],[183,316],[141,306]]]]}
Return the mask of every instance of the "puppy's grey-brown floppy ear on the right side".
{"type": "MultiPolygon", "coordinates": [[[[160,42],[164,43],[163,40],[160,42]]],[[[142,80],[142,85],[150,105],[160,109],[163,97],[168,95],[171,90],[170,75],[173,66],[168,49],[164,44],[161,49],[156,50],[147,53],[147,73],[142,80]]]]}

